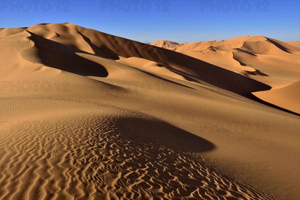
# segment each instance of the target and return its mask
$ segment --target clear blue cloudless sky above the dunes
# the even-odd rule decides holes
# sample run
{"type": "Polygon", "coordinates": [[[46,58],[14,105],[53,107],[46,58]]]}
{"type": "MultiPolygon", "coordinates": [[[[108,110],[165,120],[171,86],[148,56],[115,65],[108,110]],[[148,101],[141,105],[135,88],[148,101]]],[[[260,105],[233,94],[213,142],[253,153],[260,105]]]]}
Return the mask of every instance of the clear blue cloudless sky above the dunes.
{"type": "Polygon", "coordinates": [[[71,22],[145,42],[300,40],[299,0],[1,0],[0,27],[71,22]]]}

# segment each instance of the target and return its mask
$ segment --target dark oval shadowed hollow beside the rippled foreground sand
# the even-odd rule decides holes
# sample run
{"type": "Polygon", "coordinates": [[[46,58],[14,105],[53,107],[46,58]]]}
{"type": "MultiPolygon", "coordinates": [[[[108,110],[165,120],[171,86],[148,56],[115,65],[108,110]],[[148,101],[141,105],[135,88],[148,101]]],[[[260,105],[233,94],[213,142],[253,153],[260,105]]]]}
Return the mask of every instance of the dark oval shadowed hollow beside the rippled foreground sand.
{"type": "Polygon", "coordinates": [[[120,137],[125,136],[135,145],[150,145],[153,151],[158,151],[161,145],[178,152],[202,152],[214,148],[206,139],[162,121],[124,118],[114,124],[119,131],[125,131],[120,137]]]}

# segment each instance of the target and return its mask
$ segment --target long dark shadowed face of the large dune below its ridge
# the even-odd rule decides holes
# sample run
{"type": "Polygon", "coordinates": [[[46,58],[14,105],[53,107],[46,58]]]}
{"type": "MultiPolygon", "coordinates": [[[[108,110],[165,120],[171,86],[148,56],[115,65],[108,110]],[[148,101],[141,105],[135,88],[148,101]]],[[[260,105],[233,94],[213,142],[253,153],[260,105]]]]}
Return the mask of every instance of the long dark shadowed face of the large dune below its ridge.
{"type": "Polygon", "coordinates": [[[159,64],[168,65],[178,70],[197,76],[203,81],[222,87],[236,93],[245,94],[253,91],[268,90],[271,87],[264,83],[247,78],[243,75],[217,67],[202,60],[125,38],[108,35],[94,30],[79,27],[82,34],[88,36],[95,45],[105,42],[116,54],[123,57],[140,57],[159,64]],[[232,82],[232,80],[236,82],[232,82]],[[232,86],[234,85],[234,86],[232,86]],[[246,85],[239,87],[240,85],[246,85]]]}

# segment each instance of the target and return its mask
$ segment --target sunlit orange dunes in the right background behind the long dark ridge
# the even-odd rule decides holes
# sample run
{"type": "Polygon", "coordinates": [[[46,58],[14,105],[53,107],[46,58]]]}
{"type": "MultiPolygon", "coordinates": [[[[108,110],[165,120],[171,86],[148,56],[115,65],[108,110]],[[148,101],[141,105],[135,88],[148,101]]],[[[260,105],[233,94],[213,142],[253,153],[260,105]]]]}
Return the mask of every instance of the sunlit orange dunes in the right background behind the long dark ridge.
{"type": "MultiPolygon", "coordinates": [[[[243,74],[270,85],[272,89],[278,89],[299,80],[300,48],[297,43],[298,41],[282,42],[264,36],[246,35],[228,40],[187,43],[168,49],[243,74]]],[[[290,92],[299,94],[298,89],[290,92]]],[[[259,96],[270,102],[265,95],[259,96]]],[[[299,113],[298,107],[295,104],[293,108],[290,107],[287,101],[277,103],[273,100],[272,104],[282,108],[289,107],[299,113]]]]}

